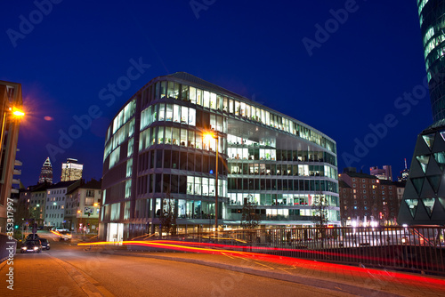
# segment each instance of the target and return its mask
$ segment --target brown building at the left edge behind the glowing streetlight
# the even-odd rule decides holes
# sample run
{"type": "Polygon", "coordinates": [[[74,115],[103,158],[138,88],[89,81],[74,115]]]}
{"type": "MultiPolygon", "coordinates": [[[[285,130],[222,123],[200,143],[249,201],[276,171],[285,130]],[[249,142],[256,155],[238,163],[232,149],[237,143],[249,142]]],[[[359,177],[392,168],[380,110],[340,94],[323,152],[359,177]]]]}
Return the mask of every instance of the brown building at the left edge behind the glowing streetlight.
{"type": "Polygon", "coordinates": [[[17,203],[11,199],[11,192],[19,193],[18,189],[12,189],[13,184],[20,181],[13,178],[19,175],[20,170],[15,168],[21,162],[15,159],[17,142],[19,140],[20,117],[23,116],[21,98],[21,84],[0,81],[0,232],[6,232],[6,221],[12,219],[13,214],[8,214],[8,205],[17,208],[17,203]],[[8,204],[9,203],[9,204],[8,204]],[[14,205],[15,204],[15,205],[14,205]]]}

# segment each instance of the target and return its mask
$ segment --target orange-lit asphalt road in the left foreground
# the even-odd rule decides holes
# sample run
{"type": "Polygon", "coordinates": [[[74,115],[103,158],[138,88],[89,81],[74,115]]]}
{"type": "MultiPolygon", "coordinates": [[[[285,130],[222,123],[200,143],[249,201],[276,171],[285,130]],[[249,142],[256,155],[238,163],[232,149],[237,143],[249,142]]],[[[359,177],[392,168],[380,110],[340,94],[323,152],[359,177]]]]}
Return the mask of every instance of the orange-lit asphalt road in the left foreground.
{"type": "Polygon", "coordinates": [[[8,296],[348,296],[198,264],[104,254],[59,242],[43,253],[15,254],[0,264],[0,295],[8,296]],[[13,268],[13,291],[6,273],[13,268]]]}

